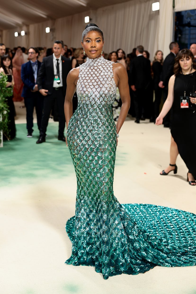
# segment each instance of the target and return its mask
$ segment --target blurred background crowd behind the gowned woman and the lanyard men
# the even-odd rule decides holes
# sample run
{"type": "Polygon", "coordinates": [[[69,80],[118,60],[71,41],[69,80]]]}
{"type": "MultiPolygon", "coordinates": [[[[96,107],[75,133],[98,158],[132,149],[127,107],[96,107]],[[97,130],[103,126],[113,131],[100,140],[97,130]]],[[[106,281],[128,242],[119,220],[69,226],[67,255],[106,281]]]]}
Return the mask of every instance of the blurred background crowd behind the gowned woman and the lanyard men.
{"type": "MultiPolygon", "coordinates": [[[[62,42],[61,56],[69,59],[71,61],[71,68],[80,66],[86,61],[87,56],[83,54],[83,48],[68,48],[62,42]]],[[[34,48],[34,47],[32,47],[34,48]]],[[[196,58],[196,44],[190,46],[190,50],[196,58]]],[[[170,44],[170,54],[166,56],[165,60],[163,57],[163,52],[157,50],[150,61],[150,54],[143,46],[137,46],[133,48],[132,52],[125,54],[125,51],[121,48],[116,51],[111,51],[109,54],[103,52],[103,57],[113,62],[119,62],[125,66],[130,86],[130,96],[131,96],[131,106],[129,113],[135,117],[135,122],[140,123],[140,120],[149,119],[150,122],[154,122],[160,113],[161,98],[163,97],[163,102],[167,98],[168,93],[168,82],[170,76],[173,74],[173,65],[175,56],[179,51],[179,46],[176,42],[170,44]]],[[[9,86],[13,87],[13,101],[24,101],[24,80],[21,77],[21,67],[31,60],[29,56],[28,49],[18,46],[13,49],[6,48],[4,44],[0,44],[0,55],[2,57],[1,62],[1,72],[4,71],[5,74],[12,76],[12,81],[8,82],[9,86]],[[4,62],[9,61],[9,71],[3,68],[4,62]],[[12,85],[10,85],[12,83],[12,85]],[[23,94],[22,94],[23,91],[23,94]]],[[[43,63],[43,58],[53,55],[53,48],[37,47],[36,48],[36,59],[41,64],[43,63]]],[[[39,65],[40,67],[40,65],[39,65]]],[[[9,78],[10,80],[11,78],[9,78]]],[[[26,98],[27,99],[27,98],[26,98]]],[[[10,100],[10,99],[9,99],[10,100]]],[[[25,102],[25,101],[24,101],[25,102]]],[[[26,106],[27,103],[25,103],[26,106]]],[[[43,101],[42,103],[43,104],[43,101]]],[[[34,105],[36,106],[36,105],[34,105]]],[[[34,106],[31,106],[34,107],[34,106]]],[[[37,106],[38,107],[38,106],[37,106]]],[[[118,120],[120,113],[121,100],[120,94],[117,88],[116,99],[112,106],[114,120],[118,120]]],[[[13,108],[13,107],[12,107],[13,108]]],[[[28,106],[27,106],[28,108],[28,106]]],[[[73,112],[77,108],[77,94],[73,97],[73,112]]],[[[38,111],[40,113],[40,111],[38,111]]],[[[11,111],[16,115],[16,112],[11,111]]],[[[55,115],[55,105],[51,116],[54,120],[58,120],[58,114],[55,115]],[[56,118],[55,118],[56,117],[56,118]]],[[[28,120],[28,114],[27,114],[28,120]]],[[[38,116],[39,128],[41,118],[38,116]]],[[[12,118],[13,121],[13,118],[12,118]]],[[[31,123],[32,124],[32,123],[31,123]]],[[[164,118],[164,127],[170,127],[170,114],[164,118]]],[[[13,128],[12,123],[12,128],[13,128]]],[[[11,131],[14,137],[14,132],[11,131]]],[[[32,130],[28,135],[31,137],[32,130]]]]}

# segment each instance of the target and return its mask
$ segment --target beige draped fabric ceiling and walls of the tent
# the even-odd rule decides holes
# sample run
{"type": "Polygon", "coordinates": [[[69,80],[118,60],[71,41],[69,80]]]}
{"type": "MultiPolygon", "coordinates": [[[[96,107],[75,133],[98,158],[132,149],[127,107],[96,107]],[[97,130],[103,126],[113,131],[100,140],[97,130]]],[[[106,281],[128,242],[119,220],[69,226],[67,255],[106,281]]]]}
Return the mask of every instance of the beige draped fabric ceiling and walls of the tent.
{"type": "MultiPolygon", "coordinates": [[[[143,45],[151,60],[156,50],[162,50],[165,57],[173,41],[173,0],[159,0],[160,11],[152,11],[156,0],[121,1],[6,0],[1,3],[0,42],[10,48],[48,48],[58,39],[69,47],[81,47],[84,17],[90,16],[103,31],[106,53],[122,48],[128,54],[143,45]],[[48,34],[46,27],[51,28],[48,34]],[[15,31],[22,30],[25,36],[14,37],[15,31]]],[[[175,11],[196,9],[195,0],[175,0],[175,4],[175,11]]]]}

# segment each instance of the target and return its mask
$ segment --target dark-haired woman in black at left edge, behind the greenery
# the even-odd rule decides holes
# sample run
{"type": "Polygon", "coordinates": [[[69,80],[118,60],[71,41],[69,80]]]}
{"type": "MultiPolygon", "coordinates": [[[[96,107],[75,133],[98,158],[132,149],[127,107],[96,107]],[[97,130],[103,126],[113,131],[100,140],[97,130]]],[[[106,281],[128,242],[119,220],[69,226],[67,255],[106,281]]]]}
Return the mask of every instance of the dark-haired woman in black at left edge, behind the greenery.
{"type": "MultiPolygon", "coordinates": [[[[14,86],[14,77],[12,74],[12,64],[11,64],[11,57],[8,54],[5,54],[1,56],[1,68],[0,72],[4,75],[7,75],[7,86],[9,88],[13,88],[14,86]]],[[[9,107],[9,139],[14,139],[16,137],[16,126],[15,126],[15,121],[14,121],[14,116],[15,116],[15,107],[14,107],[14,102],[13,102],[13,95],[10,97],[6,97],[7,99],[7,104],[9,107]]]]}

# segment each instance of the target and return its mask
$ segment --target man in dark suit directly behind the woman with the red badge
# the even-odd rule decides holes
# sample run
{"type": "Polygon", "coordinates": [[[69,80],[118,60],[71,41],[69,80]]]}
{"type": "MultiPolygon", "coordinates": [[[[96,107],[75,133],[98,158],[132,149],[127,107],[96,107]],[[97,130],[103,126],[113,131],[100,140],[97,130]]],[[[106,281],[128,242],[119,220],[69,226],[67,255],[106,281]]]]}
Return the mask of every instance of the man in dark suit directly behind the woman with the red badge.
{"type": "MultiPolygon", "coordinates": [[[[168,83],[170,77],[174,74],[174,63],[175,63],[175,57],[178,54],[180,48],[177,44],[177,42],[171,42],[170,43],[170,54],[168,54],[165,57],[165,60],[163,62],[163,70],[161,73],[161,81],[159,83],[159,87],[163,88],[163,100],[167,99],[168,94],[168,83]]],[[[170,112],[166,114],[166,116],[163,119],[163,124],[165,128],[170,127],[170,112]]]]}

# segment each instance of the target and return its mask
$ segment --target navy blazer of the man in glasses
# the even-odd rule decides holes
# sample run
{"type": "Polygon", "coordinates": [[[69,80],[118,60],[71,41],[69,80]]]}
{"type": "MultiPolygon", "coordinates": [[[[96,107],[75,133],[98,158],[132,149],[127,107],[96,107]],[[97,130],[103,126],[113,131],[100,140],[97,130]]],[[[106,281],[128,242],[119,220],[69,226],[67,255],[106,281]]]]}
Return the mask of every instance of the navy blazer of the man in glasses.
{"type": "MultiPolygon", "coordinates": [[[[38,62],[37,71],[39,71],[39,68],[41,66],[41,62],[38,62]]],[[[21,66],[21,79],[24,83],[23,91],[22,91],[22,97],[28,97],[29,95],[32,95],[31,90],[33,90],[33,87],[35,86],[35,79],[33,76],[33,68],[31,65],[31,61],[28,61],[21,66]]],[[[36,92],[33,92],[36,93],[36,92]]]]}

